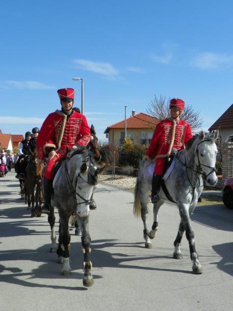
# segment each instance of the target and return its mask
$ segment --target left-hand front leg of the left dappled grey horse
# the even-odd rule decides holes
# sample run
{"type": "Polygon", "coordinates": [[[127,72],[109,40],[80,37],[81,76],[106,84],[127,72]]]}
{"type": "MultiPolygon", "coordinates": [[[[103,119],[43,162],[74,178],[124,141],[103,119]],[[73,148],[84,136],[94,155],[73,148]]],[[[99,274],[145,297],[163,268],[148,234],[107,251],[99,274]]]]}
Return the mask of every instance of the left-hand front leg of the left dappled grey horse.
{"type": "Polygon", "coordinates": [[[63,250],[64,261],[62,267],[62,275],[68,276],[71,273],[69,264],[69,248],[70,248],[70,234],[69,234],[69,217],[67,215],[60,215],[61,223],[61,248],[63,250]]]}

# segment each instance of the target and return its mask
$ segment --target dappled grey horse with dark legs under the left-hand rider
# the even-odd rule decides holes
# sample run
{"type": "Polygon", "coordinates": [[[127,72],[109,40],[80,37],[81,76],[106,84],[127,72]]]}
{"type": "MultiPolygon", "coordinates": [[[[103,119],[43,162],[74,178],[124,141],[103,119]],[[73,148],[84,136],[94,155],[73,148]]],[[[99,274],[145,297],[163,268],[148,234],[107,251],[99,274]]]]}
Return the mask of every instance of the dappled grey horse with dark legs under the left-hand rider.
{"type": "Polygon", "coordinates": [[[84,253],[84,277],[83,284],[90,287],[93,284],[91,274],[92,263],[90,261],[89,235],[89,204],[90,198],[97,187],[98,173],[104,168],[98,169],[95,164],[93,153],[85,147],[71,151],[55,175],[51,196],[50,214],[48,222],[51,226],[52,246],[50,251],[56,250],[56,236],[54,230],[55,216],[54,207],[58,209],[60,217],[59,245],[57,249],[58,262],[63,264],[62,274],[67,276],[71,273],[69,248],[69,219],[78,219],[82,230],[82,247],[84,253]]]}

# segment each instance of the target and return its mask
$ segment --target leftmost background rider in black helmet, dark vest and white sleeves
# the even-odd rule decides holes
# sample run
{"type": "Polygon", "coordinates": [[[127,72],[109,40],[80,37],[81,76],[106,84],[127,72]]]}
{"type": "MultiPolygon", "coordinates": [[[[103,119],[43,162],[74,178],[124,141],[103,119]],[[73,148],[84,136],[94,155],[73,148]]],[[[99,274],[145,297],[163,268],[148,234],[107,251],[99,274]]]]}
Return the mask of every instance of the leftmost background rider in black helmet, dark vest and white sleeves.
{"type": "Polygon", "coordinates": [[[25,138],[23,141],[21,141],[20,145],[19,145],[19,151],[18,151],[18,160],[15,164],[15,171],[17,173],[17,175],[15,176],[16,178],[24,178],[24,171],[25,171],[25,167],[27,166],[27,161],[24,158],[27,158],[27,155],[30,154],[30,150],[29,150],[29,141],[32,137],[32,134],[30,132],[26,132],[25,133],[25,138]],[[21,161],[21,159],[23,159],[21,161]]]}

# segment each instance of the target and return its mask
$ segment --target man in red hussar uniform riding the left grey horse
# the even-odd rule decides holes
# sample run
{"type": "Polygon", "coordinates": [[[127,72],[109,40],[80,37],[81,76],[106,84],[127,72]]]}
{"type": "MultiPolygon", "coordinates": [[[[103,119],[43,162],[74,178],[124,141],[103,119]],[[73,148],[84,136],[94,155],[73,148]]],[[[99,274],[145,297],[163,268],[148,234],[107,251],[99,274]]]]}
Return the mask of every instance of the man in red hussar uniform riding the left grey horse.
{"type": "Polygon", "coordinates": [[[48,158],[44,177],[44,204],[42,213],[48,214],[53,190],[53,169],[57,162],[66,158],[70,149],[87,146],[91,139],[90,128],[84,115],[73,109],[74,90],[58,90],[61,110],[50,113],[44,120],[38,138],[38,159],[48,158]]]}

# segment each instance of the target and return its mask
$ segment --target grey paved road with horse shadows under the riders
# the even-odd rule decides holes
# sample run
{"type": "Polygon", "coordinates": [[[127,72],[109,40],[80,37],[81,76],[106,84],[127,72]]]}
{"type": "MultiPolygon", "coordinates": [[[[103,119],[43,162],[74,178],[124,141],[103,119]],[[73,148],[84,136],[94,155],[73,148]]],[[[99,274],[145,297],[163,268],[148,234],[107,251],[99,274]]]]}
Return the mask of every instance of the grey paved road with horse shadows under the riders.
{"type": "MultiPolygon", "coordinates": [[[[0,310],[232,310],[233,211],[200,206],[192,216],[203,274],[191,273],[188,242],[174,260],[177,208],[164,205],[153,248],[145,249],[133,194],[99,185],[91,211],[94,286],[82,285],[81,239],[71,231],[69,277],[49,253],[46,217],[30,218],[14,172],[0,178],[0,310]]],[[[152,213],[150,224],[152,224],[152,213]]]]}

